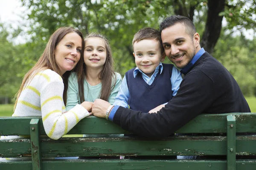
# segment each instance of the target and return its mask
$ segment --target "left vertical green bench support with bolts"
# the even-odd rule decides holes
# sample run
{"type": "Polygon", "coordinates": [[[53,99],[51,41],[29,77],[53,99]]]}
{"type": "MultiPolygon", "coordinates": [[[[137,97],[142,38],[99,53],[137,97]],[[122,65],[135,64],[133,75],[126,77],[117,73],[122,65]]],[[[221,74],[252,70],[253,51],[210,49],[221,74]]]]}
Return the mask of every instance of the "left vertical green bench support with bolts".
{"type": "Polygon", "coordinates": [[[30,121],[30,143],[32,155],[32,170],[41,170],[41,146],[40,146],[40,129],[39,119],[31,119],[30,121]]]}

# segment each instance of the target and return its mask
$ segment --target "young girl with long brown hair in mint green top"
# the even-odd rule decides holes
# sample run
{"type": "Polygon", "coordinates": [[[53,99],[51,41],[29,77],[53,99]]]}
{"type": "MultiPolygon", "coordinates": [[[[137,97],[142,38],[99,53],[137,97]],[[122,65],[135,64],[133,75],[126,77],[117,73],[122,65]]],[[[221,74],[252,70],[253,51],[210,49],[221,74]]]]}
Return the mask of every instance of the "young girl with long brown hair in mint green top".
{"type": "Polygon", "coordinates": [[[67,110],[98,98],[113,104],[122,83],[121,75],[113,71],[108,40],[101,34],[91,33],[84,42],[84,58],[78,63],[81,69],[68,79],[67,110]]]}

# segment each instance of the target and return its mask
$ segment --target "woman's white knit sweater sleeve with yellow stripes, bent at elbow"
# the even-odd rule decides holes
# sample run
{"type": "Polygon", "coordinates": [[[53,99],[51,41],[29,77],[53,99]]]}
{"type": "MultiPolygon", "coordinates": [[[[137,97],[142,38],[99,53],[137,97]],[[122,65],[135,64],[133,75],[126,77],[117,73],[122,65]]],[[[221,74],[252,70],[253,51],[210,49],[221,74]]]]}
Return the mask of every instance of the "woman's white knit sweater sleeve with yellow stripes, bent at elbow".
{"type": "Polygon", "coordinates": [[[41,91],[41,113],[44,130],[52,139],[59,139],[73,128],[81,119],[89,116],[81,105],[76,105],[70,111],[62,113],[64,84],[60,79],[54,79],[45,85],[41,91]]]}

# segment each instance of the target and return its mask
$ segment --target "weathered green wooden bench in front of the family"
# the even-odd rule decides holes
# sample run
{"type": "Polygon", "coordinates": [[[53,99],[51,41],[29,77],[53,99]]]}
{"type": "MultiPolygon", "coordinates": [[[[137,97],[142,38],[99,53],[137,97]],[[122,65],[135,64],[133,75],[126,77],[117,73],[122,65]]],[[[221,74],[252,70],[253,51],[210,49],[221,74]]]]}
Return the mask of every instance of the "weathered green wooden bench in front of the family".
{"type": "MultiPolygon", "coordinates": [[[[124,136],[52,140],[40,138],[45,135],[40,117],[0,117],[0,135],[30,135],[30,139],[0,140],[0,157],[32,157],[0,161],[0,170],[256,170],[256,159],[247,159],[256,155],[256,136],[239,135],[245,132],[256,132],[256,113],[202,114],[177,130],[176,133],[186,136],[161,139],[124,136]],[[227,159],[170,158],[177,155],[227,156],[227,159]],[[62,156],[96,157],[44,159],[62,156]],[[104,159],[106,156],[135,159],[104,159]]],[[[89,116],[68,134],[122,133],[128,132],[110,121],[89,116]]]]}

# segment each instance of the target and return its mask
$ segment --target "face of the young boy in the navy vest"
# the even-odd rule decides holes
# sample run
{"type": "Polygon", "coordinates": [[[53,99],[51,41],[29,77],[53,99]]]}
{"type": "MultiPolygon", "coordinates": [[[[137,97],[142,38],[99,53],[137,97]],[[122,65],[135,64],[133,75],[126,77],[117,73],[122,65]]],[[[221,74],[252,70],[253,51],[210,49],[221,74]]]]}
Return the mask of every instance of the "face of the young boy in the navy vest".
{"type": "Polygon", "coordinates": [[[161,54],[159,42],[155,39],[145,39],[134,42],[134,57],[137,67],[148,77],[154,73],[165,54],[161,54]]]}

